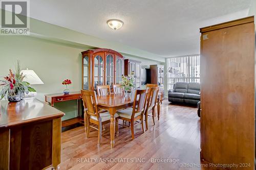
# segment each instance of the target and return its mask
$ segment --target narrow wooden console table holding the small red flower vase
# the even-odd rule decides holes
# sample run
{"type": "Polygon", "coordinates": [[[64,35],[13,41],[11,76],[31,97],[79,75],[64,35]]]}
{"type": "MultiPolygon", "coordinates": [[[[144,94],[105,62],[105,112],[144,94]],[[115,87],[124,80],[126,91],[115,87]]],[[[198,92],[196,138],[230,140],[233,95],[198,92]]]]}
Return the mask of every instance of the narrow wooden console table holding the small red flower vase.
{"type": "Polygon", "coordinates": [[[80,91],[70,92],[69,94],[55,93],[55,94],[46,94],[45,95],[45,101],[50,103],[52,107],[54,106],[55,103],[58,103],[58,102],[77,100],[78,116],[75,118],[71,118],[71,119],[62,121],[62,127],[66,127],[66,126],[70,126],[70,125],[74,125],[74,124],[83,122],[82,114],[80,113],[80,106],[81,106],[80,100],[81,99],[82,99],[82,94],[80,91]]]}

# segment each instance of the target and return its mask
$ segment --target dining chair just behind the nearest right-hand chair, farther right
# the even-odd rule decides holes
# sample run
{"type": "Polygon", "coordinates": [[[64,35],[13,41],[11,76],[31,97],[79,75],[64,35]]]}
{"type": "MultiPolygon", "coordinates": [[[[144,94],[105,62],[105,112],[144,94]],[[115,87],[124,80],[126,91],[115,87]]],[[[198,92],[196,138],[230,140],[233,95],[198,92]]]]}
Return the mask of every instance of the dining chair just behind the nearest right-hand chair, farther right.
{"type": "Polygon", "coordinates": [[[150,91],[147,94],[147,104],[146,104],[146,111],[145,111],[145,122],[146,122],[146,130],[148,130],[148,123],[147,123],[147,117],[152,116],[153,124],[155,124],[155,107],[157,103],[157,96],[158,96],[158,90],[159,87],[151,87],[149,89],[150,91]],[[152,113],[152,115],[149,115],[148,113],[152,113]]]}

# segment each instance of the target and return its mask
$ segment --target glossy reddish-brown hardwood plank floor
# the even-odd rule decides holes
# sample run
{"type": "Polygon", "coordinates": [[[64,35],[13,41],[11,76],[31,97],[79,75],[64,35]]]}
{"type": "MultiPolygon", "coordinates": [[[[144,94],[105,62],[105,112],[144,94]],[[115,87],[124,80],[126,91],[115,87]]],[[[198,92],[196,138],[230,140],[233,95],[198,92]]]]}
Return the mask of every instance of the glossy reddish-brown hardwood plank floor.
{"type": "MultiPolygon", "coordinates": [[[[120,120],[119,124],[122,124],[120,120]]],[[[197,167],[200,166],[200,118],[196,107],[172,105],[165,100],[160,120],[156,118],[153,126],[149,117],[148,128],[142,133],[141,126],[135,126],[132,140],[131,130],[119,126],[114,149],[110,148],[109,124],[102,132],[99,147],[97,131],[92,128],[88,139],[84,127],[63,132],[60,169],[201,169],[197,167]],[[119,163],[103,162],[105,158],[122,159],[119,163]],[[127,163],[135,162],[135,158],[141,162],[127,163]],[[179,159],[179,163],[154,163],[152,158],[167,158],[169,162],[179,159]],[[121,163],[125,159],[126,163],[121,163]],[[192,167],[181,167],[184,163],[192,167]]]]}

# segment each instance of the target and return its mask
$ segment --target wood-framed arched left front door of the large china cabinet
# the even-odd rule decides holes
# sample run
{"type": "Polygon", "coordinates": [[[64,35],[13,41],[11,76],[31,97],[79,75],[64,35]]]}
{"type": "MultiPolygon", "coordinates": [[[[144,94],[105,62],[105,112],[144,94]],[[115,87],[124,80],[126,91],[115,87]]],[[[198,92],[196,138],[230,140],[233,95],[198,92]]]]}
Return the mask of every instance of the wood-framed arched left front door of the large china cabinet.
{"type": "Polygon", "coordinates": [[[96,53],[93,55],[93,88],[104,85],[104,53],[96,53]]]}

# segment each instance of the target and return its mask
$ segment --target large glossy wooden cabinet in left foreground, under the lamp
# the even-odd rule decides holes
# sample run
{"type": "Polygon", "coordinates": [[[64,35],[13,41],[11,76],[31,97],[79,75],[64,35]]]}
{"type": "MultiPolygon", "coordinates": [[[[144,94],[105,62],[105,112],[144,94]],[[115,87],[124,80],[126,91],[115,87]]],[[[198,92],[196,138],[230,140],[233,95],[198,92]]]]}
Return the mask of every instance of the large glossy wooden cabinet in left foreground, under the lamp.
{"type": "Polygon", "coordinates": [[[0,101],[0,169],[58,168],[64,114],[34,98],[0,101]]]}

